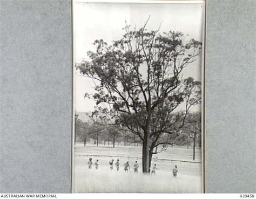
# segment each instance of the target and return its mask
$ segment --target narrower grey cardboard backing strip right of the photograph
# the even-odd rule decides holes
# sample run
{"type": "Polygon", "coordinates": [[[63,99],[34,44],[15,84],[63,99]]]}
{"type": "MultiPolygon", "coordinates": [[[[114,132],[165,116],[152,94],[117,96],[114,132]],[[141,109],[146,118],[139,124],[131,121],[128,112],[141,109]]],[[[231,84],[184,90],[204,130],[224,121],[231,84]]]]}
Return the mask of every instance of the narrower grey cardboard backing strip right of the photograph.
{"type": "Polygon", "coordinates": [[[207,193],[256,193],[255,3],[207,1],[207,193]]]}

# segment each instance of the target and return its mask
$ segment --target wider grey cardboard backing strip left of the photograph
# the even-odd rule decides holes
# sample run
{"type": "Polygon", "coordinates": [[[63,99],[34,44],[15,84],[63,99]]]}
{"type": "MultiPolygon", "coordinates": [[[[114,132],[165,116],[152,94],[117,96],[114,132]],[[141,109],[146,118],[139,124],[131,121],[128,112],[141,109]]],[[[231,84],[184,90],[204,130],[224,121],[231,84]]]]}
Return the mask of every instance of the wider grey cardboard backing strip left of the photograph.
{"type": "Polygon", "coordinates": [[[0,9],[0,193],[69,193],[71,2],[0,9]]]}

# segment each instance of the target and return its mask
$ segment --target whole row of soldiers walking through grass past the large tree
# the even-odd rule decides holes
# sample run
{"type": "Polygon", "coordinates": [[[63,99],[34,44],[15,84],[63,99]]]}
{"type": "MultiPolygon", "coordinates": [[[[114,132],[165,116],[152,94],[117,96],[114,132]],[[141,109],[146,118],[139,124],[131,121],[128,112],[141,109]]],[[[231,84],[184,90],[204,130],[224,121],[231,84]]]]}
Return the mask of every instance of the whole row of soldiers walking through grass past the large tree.
{"type": "MultiPolygon", "coordinates": [[[[89,158],[89,161],[87,162],[88,164],[88,168],[91,169],[92,166],[93,166],[93,162],[92,162],[92,158],[90,157],[89,158]]],[[[99,160],[96,160],[96,162],[94,163],[95,165],[95,169],[98,169],[99,168],[99,160]]],[[[113,170],[114,169],[114,165],[116,166],[116,169],[119,170],[120,169],[120,161],[119,159],[117,159],[116,163],[114,163],[114,160],[111,160],[109,161],[109,165],[110,165],[110,170],[113,170]]],[[[134,162],[133,164],[133,170],[134,170],[134,173],[138,173],[138,168],[139,168],[139,164],[137,161],[134,162]]],[[[156,174],[156,170],[157,170],[157,164],[154,164],[151,168],[150,168],[150,172],[151,174],[156,174]]],[[[130,163],[129,161],[127,161],[125,164],[124,164],[124,171],[128,171],[130,170],[130,163]]],[[[178,169],[177,169],[177,165],[174,166],[173,170],[172,170],[172,174],[174,177],[177,176],[177,173],[178,173],[178,169]]]]}

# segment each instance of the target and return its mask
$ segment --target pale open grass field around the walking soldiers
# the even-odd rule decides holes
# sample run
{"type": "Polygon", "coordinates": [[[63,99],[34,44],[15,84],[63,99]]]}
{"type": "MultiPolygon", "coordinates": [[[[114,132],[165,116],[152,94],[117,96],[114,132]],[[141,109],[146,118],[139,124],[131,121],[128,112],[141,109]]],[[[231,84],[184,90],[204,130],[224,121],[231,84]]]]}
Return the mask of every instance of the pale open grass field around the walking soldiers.
{"type": "MultiPolygon", "coordinates": [[[[201,163],[181,161],[162,161],[160,159],[192,160],[192,149],[170,147],[153,156],[152,164],[157,164],[156,175],[142,173],[142,147],[134,146],[93,146],[76,145],[75,147],[75,193],[201,193],[201,163]],[[86,156],[90,155],[90,156],[86,156]],[[95,156],[94,156],[95,155],[95,156]],[[105,156],[96,156],[105,155],[105,156]],[[112,157],[109,157],[112,156],[112,157]],[[124,157],[125,156],[125,157],[124,157]],[[129,156],[129,158],[127,157],[129,156]],[[99,169],[87,167],[92,157],[98,159],[99,169]],[[137,158],[138,157],[138,158],[137,158]],[[156,159],[158,157],[158,159],[156,159]],[[120,160],[120,169],[110,170],[109,161],[120,160]],[[123,164],[129,161],[131,169],[124,172],[123,164]],[[139,172],[134,174],[133,164],[139,163],[139,172]],[[178,166],[178,176],[172,176],[174,165],[178,166]]],[[[201,162],[200,149],[196,151],[196,160],[201,162]]]]}

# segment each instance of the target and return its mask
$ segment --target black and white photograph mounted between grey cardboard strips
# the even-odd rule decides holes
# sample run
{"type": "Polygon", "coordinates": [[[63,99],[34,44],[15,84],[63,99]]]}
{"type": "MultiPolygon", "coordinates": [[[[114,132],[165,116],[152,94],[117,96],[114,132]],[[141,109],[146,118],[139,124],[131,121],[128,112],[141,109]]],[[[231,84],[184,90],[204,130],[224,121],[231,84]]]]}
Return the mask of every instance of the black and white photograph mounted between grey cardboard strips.
{"type": "Polygon", "coordinates": [[[203,1],[73,1],[73,193],[203,193],[203,1]]]}

